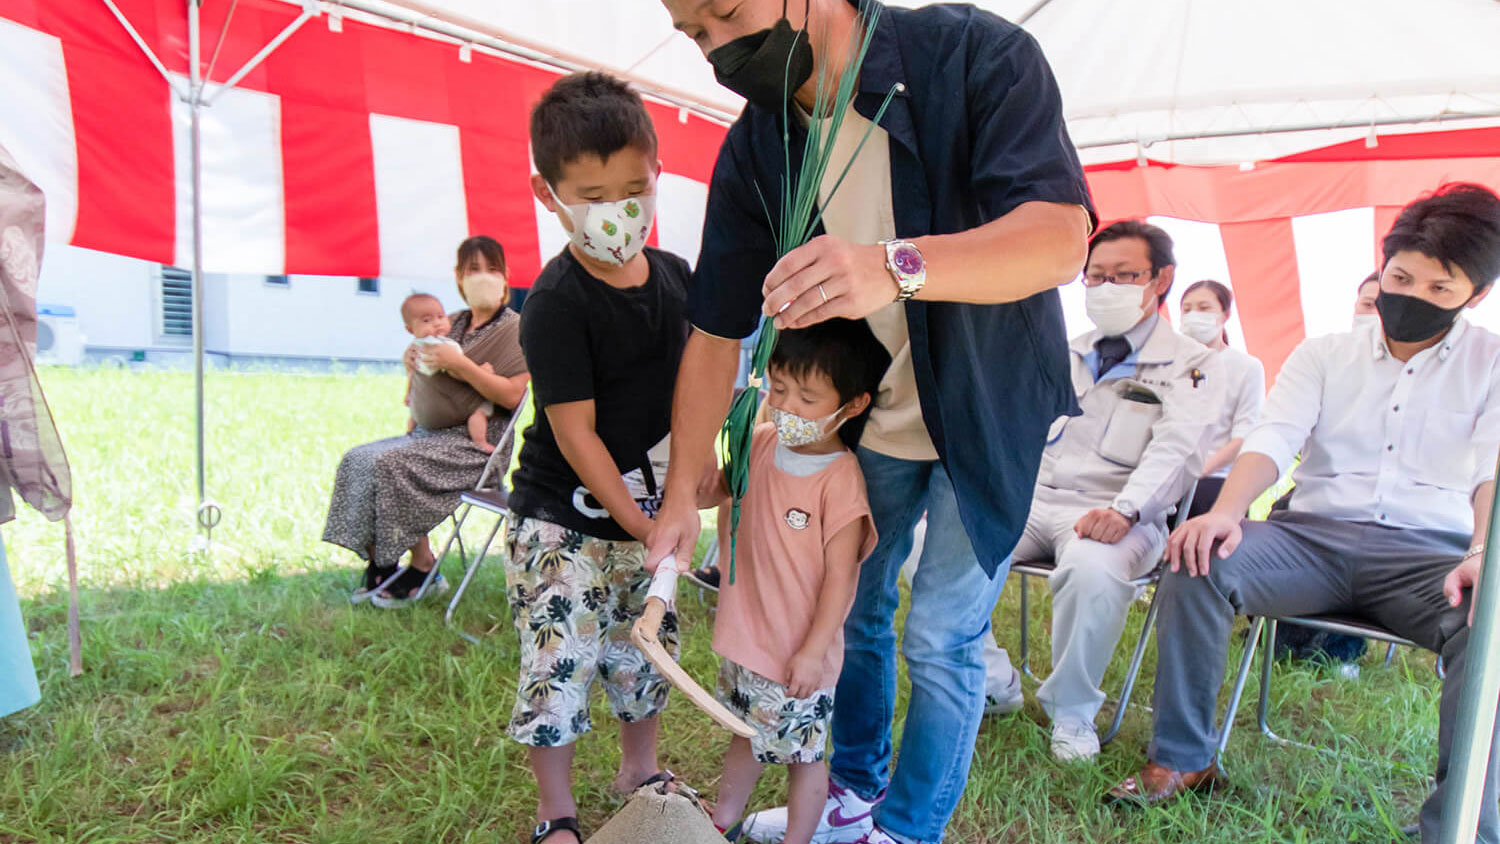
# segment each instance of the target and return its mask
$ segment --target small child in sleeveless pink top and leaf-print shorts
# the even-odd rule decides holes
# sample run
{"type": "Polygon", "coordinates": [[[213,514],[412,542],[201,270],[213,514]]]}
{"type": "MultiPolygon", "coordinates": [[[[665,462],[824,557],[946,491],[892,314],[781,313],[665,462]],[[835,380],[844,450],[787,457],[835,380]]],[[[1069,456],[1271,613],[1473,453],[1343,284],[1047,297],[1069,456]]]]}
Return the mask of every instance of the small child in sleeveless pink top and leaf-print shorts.
{"type": "Polygon", "coordinates": [[[843,622],[876,541],[850,448],[890,360],[862,321],[830,319],[783,331],[766,367],[772,421],[752,436],[735,576],[714,624],[717,697],[756,730],[724,754],[720,831],[738,825],[765,765],[788,766],[788,844],[812,840],[828,799],[843,622]]]}

